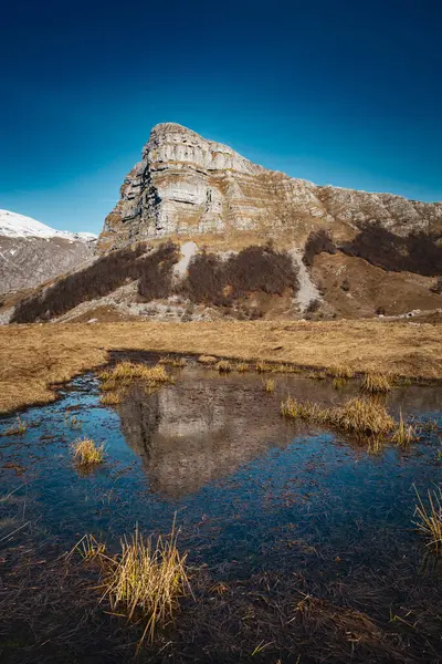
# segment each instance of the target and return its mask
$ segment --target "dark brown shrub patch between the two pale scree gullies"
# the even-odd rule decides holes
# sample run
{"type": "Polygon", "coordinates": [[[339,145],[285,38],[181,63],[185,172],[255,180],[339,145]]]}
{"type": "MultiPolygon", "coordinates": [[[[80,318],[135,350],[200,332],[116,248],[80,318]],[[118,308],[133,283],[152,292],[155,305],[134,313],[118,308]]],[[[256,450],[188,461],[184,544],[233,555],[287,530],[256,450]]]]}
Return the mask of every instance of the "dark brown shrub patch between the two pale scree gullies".
{"type": "Polygon", "coordinates": [[[192,302],[227,307],[250,292],[281,295],[298,288],[297,270],[286,251],[271,246],[246,247],[227,260],[214,253],[192,258],[182,287],[192,302]]]}

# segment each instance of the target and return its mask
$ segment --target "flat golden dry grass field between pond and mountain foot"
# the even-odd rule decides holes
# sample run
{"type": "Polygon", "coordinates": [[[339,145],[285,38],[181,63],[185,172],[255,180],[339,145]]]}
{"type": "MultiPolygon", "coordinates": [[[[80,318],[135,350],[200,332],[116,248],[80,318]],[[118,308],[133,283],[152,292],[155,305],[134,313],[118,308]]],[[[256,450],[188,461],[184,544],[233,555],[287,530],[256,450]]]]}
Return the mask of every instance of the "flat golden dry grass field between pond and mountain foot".
{"type": "Polygon", "coordinates": [[[347,366],[442,378],[442,325],[337,322],[71,323],[0,328],[0,413],[56,397],[53,385],[104,364],[108,351],[146,350],[347,366]]]}

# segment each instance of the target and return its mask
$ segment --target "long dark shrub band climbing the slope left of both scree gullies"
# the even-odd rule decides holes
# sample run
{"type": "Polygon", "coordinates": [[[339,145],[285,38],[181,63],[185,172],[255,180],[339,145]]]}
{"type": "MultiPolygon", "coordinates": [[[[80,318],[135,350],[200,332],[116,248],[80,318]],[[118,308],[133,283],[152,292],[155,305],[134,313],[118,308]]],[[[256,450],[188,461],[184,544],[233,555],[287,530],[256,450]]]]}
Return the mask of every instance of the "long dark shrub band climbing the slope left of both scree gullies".
{"type": "Polygon", "coordinates": [[[147,255],[146,251],[146,243],[113,251],[88,268],[67,274],[41,294],[23,300],[15,309],[12,322],[50,320],[136,279],[140,280],[139,291],[144,299],[165,297],[170,290],[172,264],[178,260],[177,247],[166,242],[156,251],[147,255]]]}

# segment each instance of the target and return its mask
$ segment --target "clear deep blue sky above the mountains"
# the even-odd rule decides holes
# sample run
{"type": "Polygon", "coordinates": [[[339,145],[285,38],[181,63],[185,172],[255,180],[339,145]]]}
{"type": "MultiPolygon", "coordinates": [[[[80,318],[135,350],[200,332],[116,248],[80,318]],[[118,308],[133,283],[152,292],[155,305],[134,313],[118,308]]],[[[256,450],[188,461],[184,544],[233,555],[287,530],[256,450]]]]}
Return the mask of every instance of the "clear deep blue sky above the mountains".
{"type": "Polygon", "coordinates": [[[0,208],[98,232],[158,122],[442,199],[440,2],[14,0],[0,20],[0,208]]]}

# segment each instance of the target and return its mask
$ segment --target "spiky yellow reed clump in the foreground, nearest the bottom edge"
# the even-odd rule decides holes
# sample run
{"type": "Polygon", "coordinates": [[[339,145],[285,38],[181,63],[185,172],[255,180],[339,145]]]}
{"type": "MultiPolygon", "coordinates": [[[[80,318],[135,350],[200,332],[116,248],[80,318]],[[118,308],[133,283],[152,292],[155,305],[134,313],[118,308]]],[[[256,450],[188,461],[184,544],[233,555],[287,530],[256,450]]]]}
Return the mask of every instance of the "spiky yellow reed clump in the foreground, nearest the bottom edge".
{"type": "Polygon", "coordinates": [[[138,650],[146,636],[151,642],[158,625],[166,625],[178,608],[179,598],[191,593],[187,574],[187,554],[177,548],[175,523],[169,538],[144,538],[136,528],[122,540],[122,552],[105,559],[104,594],[110,609],[129,620],[146,621],[138,650]]]}

